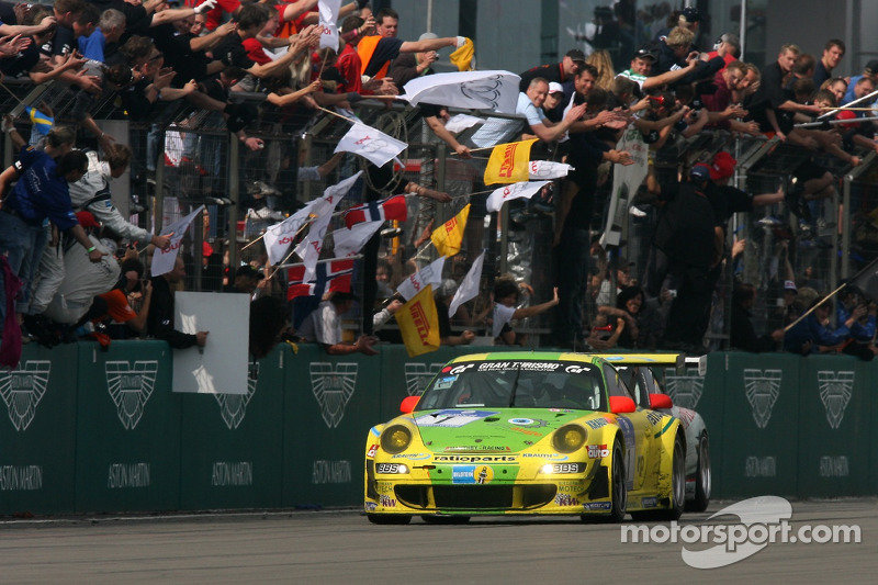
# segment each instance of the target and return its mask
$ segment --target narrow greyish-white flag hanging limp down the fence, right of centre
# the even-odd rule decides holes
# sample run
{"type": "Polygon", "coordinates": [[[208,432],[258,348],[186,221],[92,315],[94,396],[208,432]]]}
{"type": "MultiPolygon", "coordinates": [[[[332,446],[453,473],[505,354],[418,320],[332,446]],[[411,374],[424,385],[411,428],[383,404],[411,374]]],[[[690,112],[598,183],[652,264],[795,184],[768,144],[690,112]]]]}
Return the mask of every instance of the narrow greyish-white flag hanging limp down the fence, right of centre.
{"type": "Polygon", "coordinates": [[[627,221],[628,207],[649,172],[650,147],[643,142],[639,130],[631,126],[624,131],[616,149],[630,153],[634,164],[612,166],[612,191],[607,209],[607,225],[600,236],[601,246],[618,246],[622,240],[622,225],[627,221]]]}

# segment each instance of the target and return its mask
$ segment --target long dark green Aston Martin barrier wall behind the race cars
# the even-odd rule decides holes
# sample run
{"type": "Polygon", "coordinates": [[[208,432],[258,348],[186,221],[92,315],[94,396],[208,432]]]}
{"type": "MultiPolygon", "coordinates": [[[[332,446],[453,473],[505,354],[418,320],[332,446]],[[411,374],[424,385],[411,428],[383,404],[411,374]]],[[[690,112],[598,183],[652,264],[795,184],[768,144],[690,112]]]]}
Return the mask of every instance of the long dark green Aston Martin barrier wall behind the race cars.
{"type": "MultiPolygon", "coordinates": [[[[455,356],[280,346],[245,395],[177,394],[160,341],[31,344],[0,372],[0,515],[339,507],[362,502],[369,429],[455,356]]],[[[713,497],[878,494],[878,360],[712,353],[666,369],[707,423],[713,497]]]]}

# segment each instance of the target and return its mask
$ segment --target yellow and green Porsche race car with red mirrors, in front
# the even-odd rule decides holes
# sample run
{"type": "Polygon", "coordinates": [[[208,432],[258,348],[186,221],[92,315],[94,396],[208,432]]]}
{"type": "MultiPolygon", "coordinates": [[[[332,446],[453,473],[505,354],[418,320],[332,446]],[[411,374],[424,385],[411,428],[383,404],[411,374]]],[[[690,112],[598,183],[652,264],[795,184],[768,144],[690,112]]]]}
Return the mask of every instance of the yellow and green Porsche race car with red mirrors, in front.
{"type": "Polygon", "coordinates": [[[474,515],[676,519],[685,500],[680,421],[638,409],[603,358],[492,352],[449,362],[365,442],[375,524],[474,515]]]}

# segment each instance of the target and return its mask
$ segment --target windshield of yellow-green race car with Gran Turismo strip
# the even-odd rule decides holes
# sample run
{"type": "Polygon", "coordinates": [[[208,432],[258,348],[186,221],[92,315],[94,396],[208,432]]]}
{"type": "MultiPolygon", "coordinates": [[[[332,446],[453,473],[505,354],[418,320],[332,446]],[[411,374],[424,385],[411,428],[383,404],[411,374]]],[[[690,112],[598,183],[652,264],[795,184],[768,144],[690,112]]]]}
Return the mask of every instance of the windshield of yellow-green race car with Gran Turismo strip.
{"type": "Polygon", "coordinates": [[[454,363],[424,391],[418,410],[525,407],[606,410],[604,379],[590,363],[507,360],[454,363]]]}

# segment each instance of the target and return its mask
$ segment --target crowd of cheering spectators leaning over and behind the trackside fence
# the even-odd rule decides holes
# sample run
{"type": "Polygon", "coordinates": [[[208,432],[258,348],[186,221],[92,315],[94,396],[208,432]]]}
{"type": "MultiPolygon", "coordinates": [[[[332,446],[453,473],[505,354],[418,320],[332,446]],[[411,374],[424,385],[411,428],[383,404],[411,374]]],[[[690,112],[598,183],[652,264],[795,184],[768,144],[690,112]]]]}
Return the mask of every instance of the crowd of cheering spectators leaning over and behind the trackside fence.
{"type": "MultiPolygon", "coordinates": [[[[185,279],[183,260],[168,274],[146,279],[149,254],[166,249],[169,240],[128,223],[112,204],[109,180],[127,169],[132,150],[117,145],[124,142],[122,137],[101,131],[91,117],[97,97],[115,92],[132,121],[154,124],[157,132],[147,140],[148,170],[157,161],[182,168],[185,161],[210,158],[200,156],[205,146],[192,138],[194,132],[187,132],[198,130],[205,112],[237,136],[245,150],[258,154],[266,142],[248,130],[256,120],[294,120],[294,127],[307,131],[315,117],[330,115],[327,112],[334,108],[349,110],[364,98],[390,102],[404,91],[407,80],[432,75],[438,50],[461,49],[469,43],[432,33],[403,41],[396,36],[394,11],[373,15],[365,1],[357,0],[341,7],[338,48],[318,48],[325,31],[317,25],[316,8],[316,0],[195,0],[185,5],[165,0],[57,0],[52,7],[0,3],[0,34],[7,35],[0,40],[0,72],[34,83],[56,80],[69,86],[76,92],[70,123],[86,136],[81,149],[71,150],[71,132],[56,127],[40,140],[34,131],[26,140],[14,121],[4,121],[4,131],[21,150],[19,162],[0,176],[5,212],[0,220],[14,224],[0,234],[0,251],[8,254],[7,286],[0,286],[0,312],[7,326],[18,313],[25,325],[24,340],[34,337],[46,345],[76,335],[99,339],[100,335],[149,335],[173,347],[206,344],[206,331],[185,335],[173,328],[172,290],[185,279]],[[257,99],[233,99],[236,92],[257,99]],[[182,111],[177,117],[182,122],[173,128],[158,128],[155,123],[166,102],[182,111]],[[159,144],[162,135],[164,145],[159,144]],[[169,153],[172,142],[181,145],[177,156],[169,153]],[[52,201],[41,199],[41,181],[50,182],[52,201]],[[58,238],[57,229],[67,236],[58,238]],[[9,235],[19,233],[24,235],[9,235]],[[82,270],[70,268],[82,266],[83,254],[95,270],[105,265],[104,277],[91,279],[103,290],[87,288],[82,270]],[[8,297],[13,294],[12,274],[23,291],[18,305],[8,297]]],[[[515,322],[545,313],[542,319],[551,323],[551,335],[544,345],[703,352],[718,286],[745,254],[743,243],[730,235],[733,215],[769,206],[775,213],[790,212],[793,233],[817,232],[815,216],[826,215],[817,212],[833,200],[838,187],[838,173],[821,166],[820,157],[834,157],[849,169],[862,164],[865,151],[878,149],[874,124],[857,121],[868,116],[866,110],[833,110],[851,102],[860,108],[874,102],[878,61],[869,61],[853,77],[838,76],[845,44],[837,38],[826,43],[819,58],[802,54],[796,45],[784,45],[776,59],[763,66],[740,60],[740,43],[731,33],[722,34],[713,50],[696,47],[700,14],[695,9],[669,14],[666,26],[650,30],[654,35],[646,43],[635,42],[643,31],[619,26],[618,14],[618,19],[597,12],[595,16],[600,22],[586,38],[592,48],[587,56],[571,49],[560,63],[521,72],[516,112],[522,120],[504,126],[505,134],[487,144],[537,138],[532,158],[570,164],[567,177],[555,180],[534,201],[514,204],[510,225],[497,227],[496,217],[483,222],[486,195],[470,198],[475,211],[465,251],[471,259],[484,241],[472,235],[481,236],[482,225],[514,229],[517,220],[520,227],[533,213],[545,212],[548,223],[528,225],[536,225],[552,243],[552,267],[539,275],[552,297],[537,302],[530,283],[491,273],[491,261],[483,274],[483,294],[461,306],[448,323],[442,319],[446,344],[472,342],[475,331],[489,331],[492,322],[502,318],[505,325],[495,342],[525,345],[531,341],[516,330],[515,322]],[[617,55],[604,50],[601,43],[611,44],[617,55]],[[623,67],[619,67],[620,47],[627,50],[623,67]],[[824,116],[826,112],[832,113],[824,116]],[[847,122],[801,127],[817,116],[847,122]],[[662,149],[719,131],[730,140],[696,164],[685,159],[665,167],[657,164],[662,149]],[[646,145],[649,159],[645,180],[630,193],[631,214],[644,217],[652,234],[649,257],[638,263],[621,258],[617,247],[598,243],[612,173],[635,164],[634,153],[618,146],[627,132],[635,132],[637,142],[646,145]],[[731,139],[774,136],[810,153],[802,165],[790,169],[789,182],[764,193],[729,184],[736,165],[729,151],[731,139]]],[[[41,104],[33,108],[45,110],[41,104]]],[[[443,104],[425,103],[419,109],[437,140],[444,142],[458,159],[481,165],[471,158],[472,153],[486,144],[472,133],[449,132],[443,104]]],[[[313,168],[292,158],[284,168],[299,180],[352,175],[353,165],[340,164],[340,155],[313,168]]],[[[227,205],[228,193],[218,192],[222,185],[215,183],[223,175],[222,161],[212,160],[213,166],[202,162],[200,168],[202,182],[212,183],[200,194],[209,195],[203,202],[227,205]]],[[[264,169],[256,170],[264,176],[264,169]]],[[[384,180],[389,173],[393,173],[392,164],[367,166],[368,180],[360,188],[364,201],[394,194],[374,187],[389,184],[384,180]]],[[[304,203],[295,190],[292,195],[282,194],[266,181],[258,183],[258,190],[241,195],[241,203],[246,199],[248,206],[261,207],[263,220],[283,218],[304,203]]],[[[448,193],[432,187],[409,182],[396,192],[420,195],[425,202],[419,205],[428,211],[432,207],[427,200],[451,201],[448,193]]],[[[484,185],[476,184],[473,191],[484,191],[479,187],[484,185]]],[[[833,213],[830,210],[829,215],[833,213]]],[[[416,225],[410,238],[416,248],[429,238],[434,226],[432,221],[416,225]]],[[[334,355],[372,355],[379,338],[393,340],[393,331],[376,330],[402,305],[394,300],[396,285],[425,265],[419,254],[406,256],[405,246],[387,248],[382,241],[375,236],[362,251],[362,296],[335,293],[317,300],[323,303],[312,303],[309,314],[290,315],[297,327],[291,326],[283,335],[320,342],[334,355]],[[363,335],[345,342],[341,320],[357,302],[364,314],[363,335]],[[369,318],[379,310],[380,318],[369,318]],[[378,337],[372,335],[375,331],[378,337]]],[[[214,252],[205,246],[206,270],[214,252]]],[[[638,250],[622,252],[633,256],[638,250]]],[[[463,258],[446,263],[443,285],[436,291],[439,306],[447,306],[466,274],[470,265],[463,258]]],[[[770,293],[784,299],[788,311],[777,328],[764,335],[757,335],[751,320],[756,289],[735,281],[731,347],[800,353],[845,349],[864,358],[874,356],[874,303],[855,291],[837,300],[825,299],[830,291],[812,294],[812,288],[797,282],[798,274],[785,277],[777,279],[770,293]],[[802,294],[799,288],[809,291],[802,294]],[[833,302],[836,318],[830,318],[833,302]],[[795,323],[810,308],[814,311],[795,323]]],[[[216,290],[225,285],[227,292],[283,299],[282,280],[282,271],[262,260],[227,267],[224,283],[217,283],[216,290]]],[[[264,351],[260,346],[259,353],[264,351]]]]}

